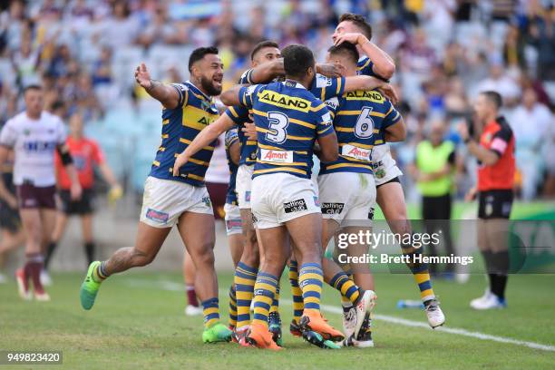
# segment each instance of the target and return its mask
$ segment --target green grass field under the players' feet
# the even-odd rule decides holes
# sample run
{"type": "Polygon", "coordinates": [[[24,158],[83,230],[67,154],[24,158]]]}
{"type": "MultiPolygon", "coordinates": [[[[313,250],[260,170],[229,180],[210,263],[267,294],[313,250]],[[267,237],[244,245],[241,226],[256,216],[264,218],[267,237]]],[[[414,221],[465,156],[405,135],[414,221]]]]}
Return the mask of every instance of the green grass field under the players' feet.
{"type": "MultiPolygon", "coordinates": [[[[219,278],[220,307],[226,321],[228,299],[223,291],[230,281],[229,274],[219,278]]],[[[288,331],[287,349],[279,353],[235,344],[203,345],[201,317],[183,315],[185,298],[179,274],[132,271],[111,277],[89,312],[79,305],[80,275],[54,275],[54,282],[49,303],[21,301],[15,282],[0,286],[0,350],[62,350],[63,365],[59,367],[71,369],[547,369],[555,364],[552,351],[380,320],[375,320],[375,348],[364,350],[325,351],[290,336],[288,331]]],[[[470,299],[482,294],[483,285],[482,276],[472,276],[465,285],[435,282],[447,316],[446,327],[555,345],[554,275],[511,277],[509,308],[495,312],[475,312],[468,307],[470,299]]],[[[291,306],[285,276],[282,287],[284,302],[280,310],[284,328],[288,328],[291,306]]],[[[376,287],[376,314],[425,321],[424,312],[418,309],[395,307],[399,298],[418,298],[411,276],[377,274],[376,287]]],[[[323,297],[326,305],[338,306],[336,292],[326,288],[323,297]]],[[[341,327],[340,316],[328,312],[326,317],[341,327]]]]}

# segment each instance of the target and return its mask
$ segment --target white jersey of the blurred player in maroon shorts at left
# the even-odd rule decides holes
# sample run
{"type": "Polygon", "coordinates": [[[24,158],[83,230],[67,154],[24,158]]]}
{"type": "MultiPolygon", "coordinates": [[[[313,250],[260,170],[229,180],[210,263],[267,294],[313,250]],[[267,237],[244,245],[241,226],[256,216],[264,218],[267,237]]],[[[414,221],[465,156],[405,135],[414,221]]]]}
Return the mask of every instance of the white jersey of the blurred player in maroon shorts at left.
{"type": "Polygon", "coordinates": [[[42,112],[39,120],[29,118],[26,112],[8,120],[0,144],[15,151],[14,184],[55,185],[54,154],[65,138],[62,120],[49,112],[42,112]]]}

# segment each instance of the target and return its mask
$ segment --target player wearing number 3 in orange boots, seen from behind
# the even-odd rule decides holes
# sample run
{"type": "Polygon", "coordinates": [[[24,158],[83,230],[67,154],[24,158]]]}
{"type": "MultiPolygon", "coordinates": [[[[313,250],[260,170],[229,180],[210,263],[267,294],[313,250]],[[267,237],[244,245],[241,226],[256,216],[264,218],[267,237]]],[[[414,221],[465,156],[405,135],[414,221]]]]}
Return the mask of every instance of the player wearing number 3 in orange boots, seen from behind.
{"type": "Polygon", "coordinates": [[[326,105],[307,90],[316,74],[312,52],[302,45],[290,45],[282,54],[286,81],[237,86],[220,96],[227,105],[251,109],[258,132],[251,204],[264,248],[248,342],[270,349],[279,349],[268,332],[268,311],[290,255],[289,237],[300,262],[299,285],[305,305],[301,326],[326,339],[343,338],[320,313],[322,216],[310,180],[315,141],[321,149],[320,158],[335,161],[336,133],[326,105]]]}

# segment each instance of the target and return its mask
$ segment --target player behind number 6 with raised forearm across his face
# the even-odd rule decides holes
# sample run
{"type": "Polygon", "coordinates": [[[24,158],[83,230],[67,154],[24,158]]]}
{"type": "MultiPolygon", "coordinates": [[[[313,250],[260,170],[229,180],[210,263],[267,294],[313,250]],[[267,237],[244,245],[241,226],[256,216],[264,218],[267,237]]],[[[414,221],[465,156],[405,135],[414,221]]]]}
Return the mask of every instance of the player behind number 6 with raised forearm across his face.
{"type": "MultiPolygon", "coordinates": [[[[332,39],[334,44],[347,42],[355,44],[360,54],[365,54],[359,59],[358,74],[373,75],[378,78],[389,79],[395,71],[393,59],[372,43],[372,27],[362,15],[345,14],[339,18],[336,32],[332,39]]],[[[406,205],[404,202],[403,188],[399,176],[403,172],[397,167],[386,142],[376,145],[372,151],[372,166],[375,175],[376,200],[384,212],[385,219],[394,233],[411,233],[410,223],[406,221],[406,205]]],[[[410,245],[404,245],[403,254],[414,256],[422,251],[410,245]]],[[[428,324],[432,327],[442,326],[445,316],[433,293],[432,280],[427,264],[415,263],[408,265],[414,275],[414,281],[420,290],[420,297],[424,303],[428,324]]]]}

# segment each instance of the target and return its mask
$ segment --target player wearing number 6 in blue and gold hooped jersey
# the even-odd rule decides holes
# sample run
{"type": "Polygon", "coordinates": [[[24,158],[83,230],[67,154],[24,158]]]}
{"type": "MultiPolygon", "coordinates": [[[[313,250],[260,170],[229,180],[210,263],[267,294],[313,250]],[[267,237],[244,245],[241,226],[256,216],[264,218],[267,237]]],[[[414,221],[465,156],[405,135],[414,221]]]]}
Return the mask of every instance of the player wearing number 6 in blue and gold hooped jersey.
{"type": "MultiPolygon", "coordinates": [[[[355,75],[358,60],[355,45],[343,43],[332,46],[327,57],[334,63],[344,65],[346,75],[355,75]]],[[[377,90],[344,93],[327,100],[326,104],[335,115],[339,158],[322,163],[318,176],[324,245],[339,229],[347,234],[369,231],[375,204],[372,149],[377,142],[384,141],[386,135],[390,141],[404,140],[401,115],[377,90]],[[337,191],[339,188],[342,190],[337,191]]],[[[362,257],[368,250],[367,246],[350,244],[345,252],[351,257],[362,257]]],[[[325,258],[323,266],[326,281],[342,293],[346,343],[372,346],[369,317],[376,296],[368,266],[351,264],[348,268],[360,287],[359,292],[355,291],[351,278],[335,262],[325,258]],[[362,297],[354,300],[356,297],[353,295],[357,294],[362,297]],[[361,309],[364,305],[368,307],[361,309]]]]}

